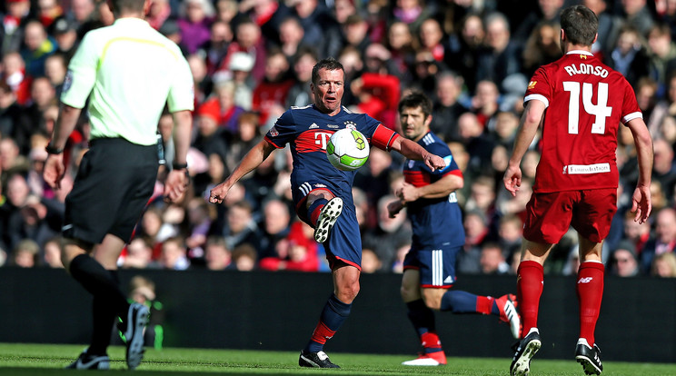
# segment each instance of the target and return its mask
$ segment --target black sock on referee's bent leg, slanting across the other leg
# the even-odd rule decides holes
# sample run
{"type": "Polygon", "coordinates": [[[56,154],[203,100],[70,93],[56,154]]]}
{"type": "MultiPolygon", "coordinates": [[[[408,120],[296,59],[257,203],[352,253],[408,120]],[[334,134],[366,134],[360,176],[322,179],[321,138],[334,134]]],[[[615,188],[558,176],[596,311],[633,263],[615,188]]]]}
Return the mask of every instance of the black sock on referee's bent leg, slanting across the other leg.
{"type": "Polygon", "coordinates": [[[110,271],[88,254],[79,254],[70,263],[70,273],[84,289],[110,303],[114,314],[126,319],[129,303],[110,271]]]}

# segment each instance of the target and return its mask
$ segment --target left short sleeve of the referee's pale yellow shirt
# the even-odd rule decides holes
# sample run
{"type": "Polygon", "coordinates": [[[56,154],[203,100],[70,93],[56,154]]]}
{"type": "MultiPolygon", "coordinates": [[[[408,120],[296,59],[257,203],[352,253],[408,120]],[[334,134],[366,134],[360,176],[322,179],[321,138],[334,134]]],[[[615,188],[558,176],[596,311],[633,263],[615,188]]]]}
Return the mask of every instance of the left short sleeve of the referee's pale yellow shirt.
{"type": "Polygon", "coordinates": [[[98,44],[92,33],[84,35],[65,74],[61,102],[83,108],[94,88],[98,68],[98,44]]]}

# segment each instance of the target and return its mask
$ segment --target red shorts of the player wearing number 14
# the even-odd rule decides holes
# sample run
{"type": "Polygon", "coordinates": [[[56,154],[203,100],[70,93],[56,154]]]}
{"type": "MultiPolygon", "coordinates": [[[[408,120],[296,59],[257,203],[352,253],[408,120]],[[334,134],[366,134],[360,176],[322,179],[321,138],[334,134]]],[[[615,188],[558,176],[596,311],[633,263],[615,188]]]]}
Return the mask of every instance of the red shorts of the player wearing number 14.
{"type": "Polygon", "coordinates": [[[558,243],[570,226],[583,238],[601,242],[617,212],[615,188],[532,193],[526,205],[523,237],[531,242],[558,243]]]}

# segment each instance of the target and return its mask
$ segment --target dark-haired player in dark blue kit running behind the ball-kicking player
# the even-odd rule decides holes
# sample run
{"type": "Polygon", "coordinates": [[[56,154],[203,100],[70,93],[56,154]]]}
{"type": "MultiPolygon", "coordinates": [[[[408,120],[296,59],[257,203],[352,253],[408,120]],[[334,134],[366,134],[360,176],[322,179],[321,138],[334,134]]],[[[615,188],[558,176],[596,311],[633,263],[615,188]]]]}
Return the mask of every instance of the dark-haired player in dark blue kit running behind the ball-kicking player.
{"type": "Polygon", "coordinates": [[[406,95],[399,103],[399,116],[404,136],[429,153],[441,155],[445,162],[442,169],[432,170],[424,163],[407,159],[403,165],[404,183],[396,192],[399,200],[387,207],[390,216],[406,207],[413,225],[411,250],[403,262],[401,291],[423,351],[417,359],[403,364],[436,366],[446,364],[446,355],[434,329],[432,310],[494,314],[510,323],[514,338],[519,338],[521,320],[512,294],[495,299],[452,290],[456,255],[464,244],[462,213],[455,197],[455,191],[462,188],[462,172],[448,145],[430,132],[429,98],[420,93],[406,95]]]}

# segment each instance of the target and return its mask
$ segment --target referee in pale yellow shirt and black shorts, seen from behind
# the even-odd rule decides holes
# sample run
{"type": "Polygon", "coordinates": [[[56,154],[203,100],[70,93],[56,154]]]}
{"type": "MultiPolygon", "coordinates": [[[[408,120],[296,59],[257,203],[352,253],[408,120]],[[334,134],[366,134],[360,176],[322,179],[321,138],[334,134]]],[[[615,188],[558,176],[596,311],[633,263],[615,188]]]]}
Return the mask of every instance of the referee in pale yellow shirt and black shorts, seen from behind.
{"type": "Polygon", "coordinates": [[[108,5],[114,24],[84,35],[68,66],[44,173],[47,183],[59,187],[66,140],[89,98],[90,149],[65,200],[61,255],[66,271],[94,295],[91,344],[67,367],[81,370],[109,368],[106,351],[116,317],[122,319],[127,366],[133,370],[143,359],[148,309],[127,302],[116,261],[154,191],[156,131],[165,104],[176,125],[166,199],[180,199],[188,184],[190,68],[178,46],[144,21],[150,0],[108,0],[108,5]]]}

